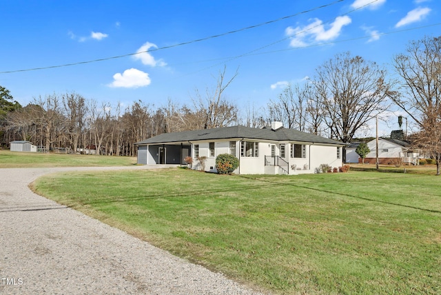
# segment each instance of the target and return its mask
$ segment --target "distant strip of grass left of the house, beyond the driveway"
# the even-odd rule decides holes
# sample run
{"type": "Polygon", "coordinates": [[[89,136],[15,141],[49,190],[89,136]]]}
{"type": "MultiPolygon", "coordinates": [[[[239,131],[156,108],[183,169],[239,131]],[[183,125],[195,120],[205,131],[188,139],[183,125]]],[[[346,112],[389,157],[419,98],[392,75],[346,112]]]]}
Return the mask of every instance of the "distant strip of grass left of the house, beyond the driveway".
{"type": "Polygon", "coordinates": [[[0,168],[127,166],[134,164],[136,164],[136,158],[128,156],[10,152],[9,150],[0,150],[0,168]]]}

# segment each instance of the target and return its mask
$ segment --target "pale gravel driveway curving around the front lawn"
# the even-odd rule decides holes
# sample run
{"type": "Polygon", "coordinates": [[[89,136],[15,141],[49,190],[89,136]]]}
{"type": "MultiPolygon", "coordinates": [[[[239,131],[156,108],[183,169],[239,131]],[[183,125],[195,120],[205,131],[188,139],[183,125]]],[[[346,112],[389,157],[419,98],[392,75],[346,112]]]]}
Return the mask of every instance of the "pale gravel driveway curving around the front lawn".
{"type": "Polygon", "coordinates": [[[0,169],[0,294],[256,294],[28,188],[53,172],[148,168],[0,169]]]}

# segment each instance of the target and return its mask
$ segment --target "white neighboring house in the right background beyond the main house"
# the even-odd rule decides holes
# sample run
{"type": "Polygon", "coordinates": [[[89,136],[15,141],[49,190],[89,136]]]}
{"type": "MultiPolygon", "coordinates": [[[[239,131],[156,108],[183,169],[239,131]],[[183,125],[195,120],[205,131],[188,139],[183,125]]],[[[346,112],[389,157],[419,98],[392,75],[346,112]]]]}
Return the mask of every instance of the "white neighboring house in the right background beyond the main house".
{"type": "MultiPolygon", "coordinates": [[[[365,163],[376,163],[376,139],[367,143],[369,154],[367,154],[365,163]]],[[[419,165],[419,159],[424,156],[419,150],[412,150],[410,143],[398,139],[379,138],[378,139],[378,164],[391,165],[400,159],[408,165],[419,165]]],[[[361,163],[361,159],[360,159],[361,163]]]]}

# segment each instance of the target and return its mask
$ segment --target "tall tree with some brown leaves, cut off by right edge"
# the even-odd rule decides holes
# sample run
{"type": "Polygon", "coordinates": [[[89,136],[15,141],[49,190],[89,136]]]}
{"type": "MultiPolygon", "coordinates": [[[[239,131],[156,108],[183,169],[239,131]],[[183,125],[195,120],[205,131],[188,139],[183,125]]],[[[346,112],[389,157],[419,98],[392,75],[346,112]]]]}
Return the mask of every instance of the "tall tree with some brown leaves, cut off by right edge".
{"type": "Polygon", "coordinates": [[[401,95],[391,99],[420,126],[416,144],[431,152],[440,175],[441,37],[411,41],[393,61],[401,95]]]}

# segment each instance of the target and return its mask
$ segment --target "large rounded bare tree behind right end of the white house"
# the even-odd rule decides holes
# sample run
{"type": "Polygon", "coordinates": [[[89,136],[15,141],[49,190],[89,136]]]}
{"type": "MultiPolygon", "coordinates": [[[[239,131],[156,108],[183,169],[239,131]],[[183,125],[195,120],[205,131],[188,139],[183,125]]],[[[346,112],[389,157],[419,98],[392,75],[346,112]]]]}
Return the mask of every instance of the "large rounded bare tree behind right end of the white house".
{"type": "Polygon", "coordinates": [[[357,130],[387,109],[391,83],[376,63],[345,52],[318,67],[316,73],[314,85],[332,138],[351,142],[357,130]]]}

